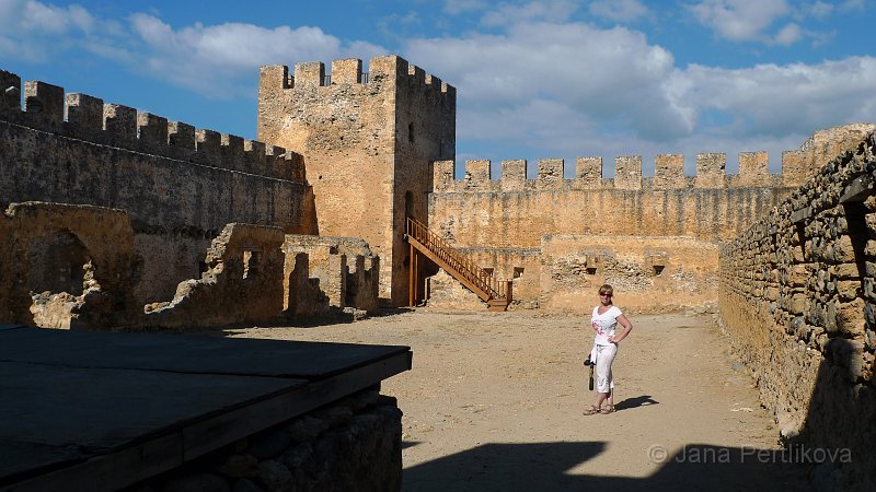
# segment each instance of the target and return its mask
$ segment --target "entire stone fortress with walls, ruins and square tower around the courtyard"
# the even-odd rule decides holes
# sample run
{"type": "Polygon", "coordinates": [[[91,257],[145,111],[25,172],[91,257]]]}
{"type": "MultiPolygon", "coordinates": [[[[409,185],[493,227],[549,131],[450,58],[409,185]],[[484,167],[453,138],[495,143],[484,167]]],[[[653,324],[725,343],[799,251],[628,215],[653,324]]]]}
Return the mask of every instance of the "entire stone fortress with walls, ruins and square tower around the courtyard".
{"type": "MultiPolygon", "coordinates": [[[[465,163],[456,90],[396,56],[261,70],[260,141],[22,87],[0,72],[0,321],[171,328],[383,304],[484,304],[406,236],[408,218],[512,285],[509,308],[721,313],[787,440],[851,447],[874,480],[876,125],[783,153],[465,163]],[[21,95],[24,106],[22,109],[21,95]],[[265,142],[265,143],[262,143],[265,142]],[[206,251],[206,256],[205,256],[206,251]],[[413,284],[412,284],[413,282],[413,284]],[[219,308],[221,307],[221,308],[219,308]]],[[[838,471],[839,473],[839,471],[838,471]]],[[[839,480],[839,479],[838,479],[839,480]]]]}

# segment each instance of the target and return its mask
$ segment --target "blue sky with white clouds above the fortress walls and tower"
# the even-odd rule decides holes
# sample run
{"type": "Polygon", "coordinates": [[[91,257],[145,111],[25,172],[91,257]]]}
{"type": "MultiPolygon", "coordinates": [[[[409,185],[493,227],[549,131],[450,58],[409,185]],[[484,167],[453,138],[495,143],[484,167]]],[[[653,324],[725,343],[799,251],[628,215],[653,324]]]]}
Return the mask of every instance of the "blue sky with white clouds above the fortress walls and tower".
{"type": "Polygon", "coordinates": [[[876,0],[0,0],[0,69],[255,138],[258,67],[397,54],[458,90],[466,159],[799,148],[876,121],[876,0]]]}

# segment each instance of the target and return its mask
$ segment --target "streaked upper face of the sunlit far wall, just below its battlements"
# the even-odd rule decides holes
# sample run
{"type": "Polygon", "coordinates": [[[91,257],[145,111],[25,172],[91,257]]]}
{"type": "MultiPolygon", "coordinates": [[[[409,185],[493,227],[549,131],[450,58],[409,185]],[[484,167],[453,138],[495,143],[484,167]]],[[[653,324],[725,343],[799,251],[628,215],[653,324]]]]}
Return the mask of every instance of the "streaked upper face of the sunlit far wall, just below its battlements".
{"type": "MultiPolygon", "coordinates": [[[[452,163],[447,165],[452,173],[452,163]]],[[[466,173],[465,179],[429,196],[429,229],[460,247],[538,247],[548,234],[722,241],[735,237],[793,189],[773,186],[776,176],[762,187],[664,189],[656,180],[625,181],[619,188],[608,179],[534,179],[519,183],[522,191],[505,191],[505,179],[488,179],[487,169],[466,173]]]]}

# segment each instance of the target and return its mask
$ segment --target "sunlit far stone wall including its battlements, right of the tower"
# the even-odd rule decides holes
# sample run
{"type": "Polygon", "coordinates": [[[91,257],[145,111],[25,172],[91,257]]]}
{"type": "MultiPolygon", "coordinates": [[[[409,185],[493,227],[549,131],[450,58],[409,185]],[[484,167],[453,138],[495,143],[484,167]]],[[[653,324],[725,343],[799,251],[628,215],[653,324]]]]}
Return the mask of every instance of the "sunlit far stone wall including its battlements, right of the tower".
{"type": "MultiPolygon", "coordinates": [[[[712,301],[706,294],[715,292],[714,245],[736,237],[781,203],[814,172],[814,159],[856,144],[866,129],[876,126],[849,125],[815,133],[800,150],[783,154],[781,175],[769,173],[764,152],[740,154],[737,175],[726,175],[726,156],[719,153],[698,154],[695,176],[683,174],[682,155],[658,155],[653,177],[643,177],[641,157],[621,156],[615,160],[613,178],[603,177],[601,159],[579,157],[574,179],[563,178],[564,163],[558,159],[539,160],[535,179],[526,178],[527,162],[520,160],[504,161],[499,179],[491,179],[489,161],[469,161],[461,180],[454,179],[452,161],[435,162],[429,229],[462,251],[475,250],[473,258],[479,265],[494,269],[500,279],[512,279],[518,270],[539,271],[515,285],[518,307],[566,311],[574,304],[572,298],[581,292],[589,295],[580,290],[584,284],[555,292],[549,281],[553,276],[577,276],[576,261],[568,265],[569,271],[553,271],[564,265],[558,261],[552,263],[552,271],[542,272],[543,265],[533,266],[528,253],[514,253],[538,250],[552,262],[557,259],[541,250],[543,238],[573,234],[603,237],[599,244],[611,251],[609,257],[639,257],[630,263],[639,267],[612,276],[619,286],[630,284],[642,294],[637,296],[642,303],[634,302],[636,309],[707,308],[712,301]],[[613,244],[612,236],[619,237],[613,244]],[[693,243],[684,248],[711,251],[703,265],[713,270],[707,273],[698,267],[695,272],[671,273],[647,291],[639,291],[642,272],[650,266],[646,265],[644,249],[632,244],[638,239],[629,237],[688,237],[693,243]],[[494,255],[486,253],[491,249],[494,255]],[[692,284],[712,286],[694,294],[692,284]]],[[[615,263],[620,268],[624,261],[615,263]]]]}

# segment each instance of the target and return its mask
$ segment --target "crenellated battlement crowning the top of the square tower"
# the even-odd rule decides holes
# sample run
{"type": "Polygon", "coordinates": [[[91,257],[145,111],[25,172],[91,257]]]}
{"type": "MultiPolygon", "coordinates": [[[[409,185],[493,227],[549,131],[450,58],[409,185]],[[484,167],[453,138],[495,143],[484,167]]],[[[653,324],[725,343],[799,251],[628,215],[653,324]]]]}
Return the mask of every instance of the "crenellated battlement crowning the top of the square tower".
{"type": "Polygon", "coordinates": [[[372,85],[379,91],[389,80],[442,94],[456,102],[456,87],[395,55],[371,58],[370,72],[362,71],[362,60],[358,58],[333,60],[331,67],[331,73],[326,73],[322,61],[299,62],[295,65],[291,75],[289,67],[285,65],[262,67],[260,94],[276,96],[283,91],[336,91],[351,86],[364,90],[365,85],[372,85]]]}

